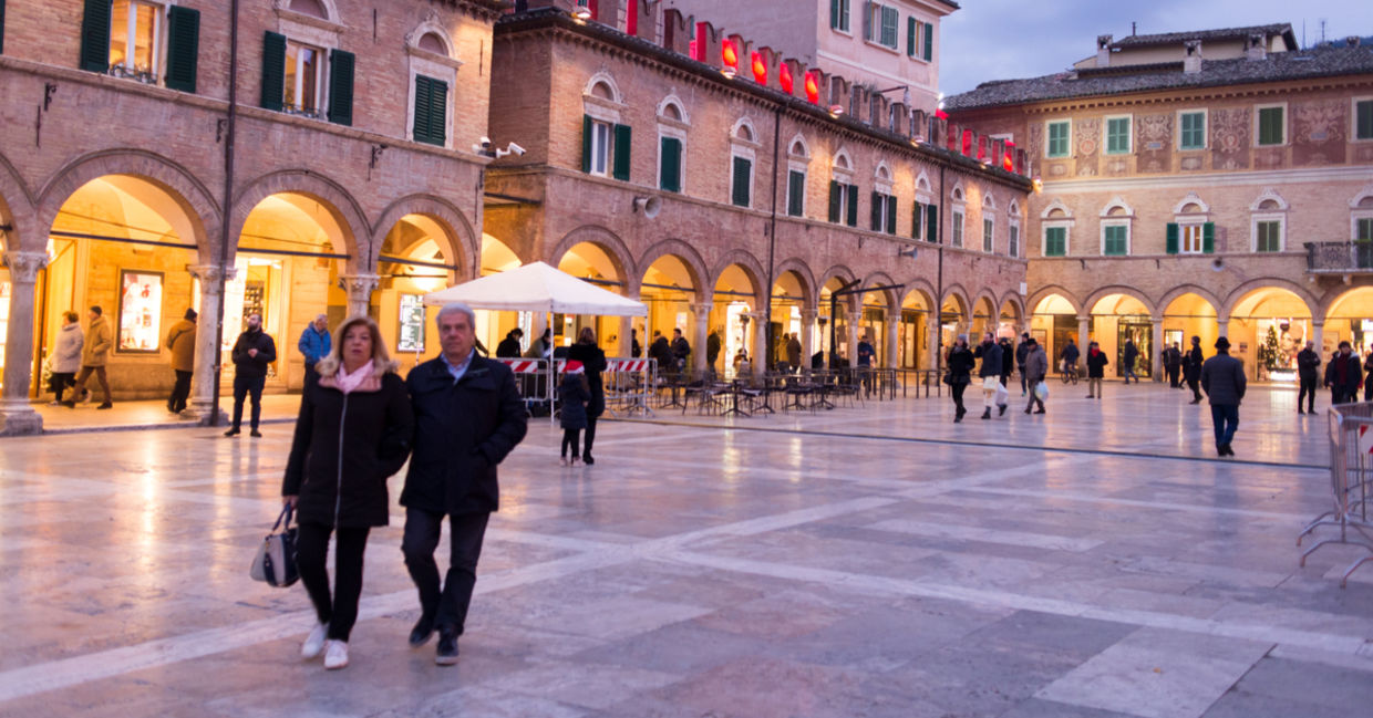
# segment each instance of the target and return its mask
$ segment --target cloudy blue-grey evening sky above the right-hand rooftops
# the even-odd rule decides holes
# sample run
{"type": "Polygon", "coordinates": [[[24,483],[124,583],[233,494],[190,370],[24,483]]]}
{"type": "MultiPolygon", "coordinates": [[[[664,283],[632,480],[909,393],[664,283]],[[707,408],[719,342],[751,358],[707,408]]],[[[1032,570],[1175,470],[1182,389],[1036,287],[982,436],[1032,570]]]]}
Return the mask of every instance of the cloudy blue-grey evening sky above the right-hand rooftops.
{"type": "MultiPolygon", "coordinates": [[[[1096,54],[1098,34],[1140,34],[1292,23],[1306,44],[1373,34],[1369,0],[960,0],[962,10],[941,25],[939,89],[967,92],[987,80],[1057,73],[1096,54]]],[[[1203,54],[1205,48],[1203,48],[1203,54]]]]}

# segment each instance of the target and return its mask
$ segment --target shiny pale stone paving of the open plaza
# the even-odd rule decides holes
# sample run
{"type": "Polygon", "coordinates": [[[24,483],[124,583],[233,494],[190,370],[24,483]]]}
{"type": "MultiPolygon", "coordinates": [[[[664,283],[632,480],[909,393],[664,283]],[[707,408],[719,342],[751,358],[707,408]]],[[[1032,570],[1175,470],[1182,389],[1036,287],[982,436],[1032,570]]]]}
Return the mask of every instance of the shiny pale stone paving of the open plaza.
{"type": "Polygon", "coordinates": [[[456,667],[405,642],[401,478],[325,671],[303,588],[247,575],[290,424],[0,439],[0,715],[1373,713],[1373,566],[1344,589],[1358,549],[1297,566],[1324,413],[1254,389],[1222,460],[1181,391],[1085,394],[962,424],[947,398],[658,412],[603,423],[578,468],[534,421],[456,667]]]}

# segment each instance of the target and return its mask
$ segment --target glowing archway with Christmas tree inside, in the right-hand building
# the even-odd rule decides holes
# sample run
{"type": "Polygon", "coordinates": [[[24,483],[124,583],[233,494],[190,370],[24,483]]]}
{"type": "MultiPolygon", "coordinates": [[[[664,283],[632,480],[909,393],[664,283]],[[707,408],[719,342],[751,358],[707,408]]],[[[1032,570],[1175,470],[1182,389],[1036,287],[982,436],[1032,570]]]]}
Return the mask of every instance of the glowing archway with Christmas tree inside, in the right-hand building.
{"type": "MultiPolygon", "coordinates": [[[[1230,356],[1244,361],[1251,379],[1296,382],[1296,354],[1315,338],[1311,309],[1293,291],[1262,287],[1247,292],[1230,309],[1226,338],[1230,356]]],[[[1210,356],[1214,349],[1201,345],[1210,356]]]]}

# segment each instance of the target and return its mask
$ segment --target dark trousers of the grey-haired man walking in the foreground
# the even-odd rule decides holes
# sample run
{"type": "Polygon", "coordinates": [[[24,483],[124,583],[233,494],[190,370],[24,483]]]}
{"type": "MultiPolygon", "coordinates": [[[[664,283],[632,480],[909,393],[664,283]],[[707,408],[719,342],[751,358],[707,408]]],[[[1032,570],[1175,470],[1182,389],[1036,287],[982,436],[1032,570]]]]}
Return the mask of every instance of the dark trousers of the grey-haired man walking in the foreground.
{"type": "Polygon", "coordinates": [[[442,589],[438,581],[438,548],[443,530],[443,513],[417,508],[405,509],[405,537],[401,552],[405,567],[420,590],[420,610],[434,618],[434,626],[453,629],[459,636],[467,622],[467,607],[472,603],[476,585],[476,559],[482,556],[482,537],[490,513],[450,513],[448,516],[449,568],[442,589]]]}

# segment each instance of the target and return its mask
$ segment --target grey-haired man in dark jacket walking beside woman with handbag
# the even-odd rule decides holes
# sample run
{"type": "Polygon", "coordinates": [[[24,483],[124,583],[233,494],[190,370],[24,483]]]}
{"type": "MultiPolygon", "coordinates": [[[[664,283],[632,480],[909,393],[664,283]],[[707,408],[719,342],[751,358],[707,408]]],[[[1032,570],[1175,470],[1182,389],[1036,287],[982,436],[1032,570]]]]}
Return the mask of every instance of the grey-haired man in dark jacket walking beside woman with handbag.
{"type": "Polygon", "coordinates": [[[476,585],[486,522],[500,508],[496,465],[524,438],[524,404],[509,367],[476,356],[475,316],[450,303],[438,313],[442,354],[405,379],[415,408],[415,450],[401,491],[401,552],[420,592],[420,619],[411,645],[439,632],[441,666],[457,663],[457,637],[476,585]],[[449,568],[439,588],[438,548],[449,524],[449,568]]]}

